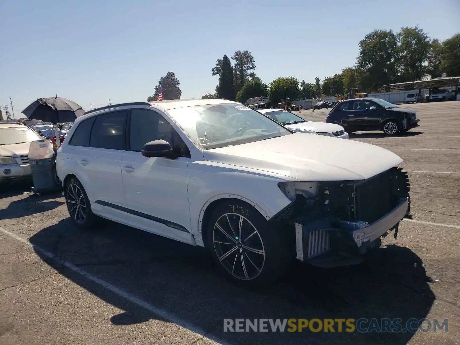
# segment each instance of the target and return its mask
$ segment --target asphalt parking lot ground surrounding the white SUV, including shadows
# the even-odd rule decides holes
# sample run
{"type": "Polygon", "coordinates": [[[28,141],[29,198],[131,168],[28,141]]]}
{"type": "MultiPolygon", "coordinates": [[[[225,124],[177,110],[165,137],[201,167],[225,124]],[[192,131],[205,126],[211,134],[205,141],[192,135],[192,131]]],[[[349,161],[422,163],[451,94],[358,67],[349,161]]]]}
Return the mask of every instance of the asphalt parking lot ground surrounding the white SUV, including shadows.
{"type": "Polygon", "coordinates": [[[397,240],[357,266],[293,263],[259,291],[222,279],[201,248],[109,221],[78,230],[59,194],[1,186],[0,344],[459,344],[460,102],[407,107],[420,127],[350,136],[404,159],[413,220],[397,240]],[[225,318],[437,318],[448,332],[224,333],[225,318]]]}

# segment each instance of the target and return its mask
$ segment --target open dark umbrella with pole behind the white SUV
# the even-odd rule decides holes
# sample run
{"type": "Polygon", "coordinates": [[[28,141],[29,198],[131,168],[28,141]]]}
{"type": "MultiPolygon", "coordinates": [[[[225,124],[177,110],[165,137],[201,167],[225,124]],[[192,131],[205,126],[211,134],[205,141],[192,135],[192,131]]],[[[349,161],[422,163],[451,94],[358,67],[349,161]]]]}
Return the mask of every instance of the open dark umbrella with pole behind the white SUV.
{"type": "MultiPolygon", "coordinates": [[[[74,101],[57,97],[56,95],[56,97],[37,98],[22,113],[29,119],[57,124],[61,122],[74,122],[77,117],[85,113],[85,110],[74,101]]],[[[56,141],[57,145],[59,145],[60,140],[57,132],[56,141]]]]}

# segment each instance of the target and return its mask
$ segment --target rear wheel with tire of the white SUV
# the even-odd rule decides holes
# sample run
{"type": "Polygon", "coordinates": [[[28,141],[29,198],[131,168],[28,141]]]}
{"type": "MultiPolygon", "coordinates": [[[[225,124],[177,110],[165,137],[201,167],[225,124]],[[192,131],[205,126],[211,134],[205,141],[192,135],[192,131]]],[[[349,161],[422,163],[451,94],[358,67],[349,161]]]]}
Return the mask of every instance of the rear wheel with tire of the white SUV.
{"type": "Polygon", "coordinates": [[[70,178],[64,191],[70,218],[78,227],[90,228],[94,224],[96,216],[91,211],[88,196],[81,182],[76,177],[70,178]]]}

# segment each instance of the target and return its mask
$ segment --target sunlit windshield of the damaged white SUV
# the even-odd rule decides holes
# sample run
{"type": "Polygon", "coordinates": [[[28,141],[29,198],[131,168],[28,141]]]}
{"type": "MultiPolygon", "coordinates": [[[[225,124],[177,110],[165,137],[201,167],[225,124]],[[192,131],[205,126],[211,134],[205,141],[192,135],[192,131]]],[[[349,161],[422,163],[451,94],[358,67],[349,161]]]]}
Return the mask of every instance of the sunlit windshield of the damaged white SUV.
{"type": "Polygon", "coordinates": [[[258,111],[237,103],[196,105],[167,113],[202,150],[291,134],[258,111]]]}

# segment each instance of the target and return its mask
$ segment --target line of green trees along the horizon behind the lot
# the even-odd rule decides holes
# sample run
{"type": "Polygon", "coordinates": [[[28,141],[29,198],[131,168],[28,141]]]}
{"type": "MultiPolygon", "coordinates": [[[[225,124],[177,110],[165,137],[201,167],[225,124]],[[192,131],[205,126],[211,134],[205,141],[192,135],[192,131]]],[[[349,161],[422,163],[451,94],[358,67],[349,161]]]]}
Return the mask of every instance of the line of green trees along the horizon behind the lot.
{"type": "MultiPolygon", "coordinates": [[[[270,84],[255,74],[256,63],[251,52],[237,50],[230,58],[225,54],[211,68],[219,83],[213,94],[202,98],[224,98],[244,103],[248,98],[268,96],[273,104],[282,98],[310,99],[312,97],[343,95],[345,89],[358,92],[379,92],[383,86],[405,81],[417,81],[441,76],[460,75],[460,34],[443,42],[430,39],[418,26],[392,30],[374,30],[359,42],[359,54],[354,66],[340,73],[319,77],[314,82],[299,81],[295,76],[278,77],[270,84]]],[[[163,90],[163,99],[180,99],[182,91],[173,72],[160,78],[153,96],[155,101],[163,90]]]]}

